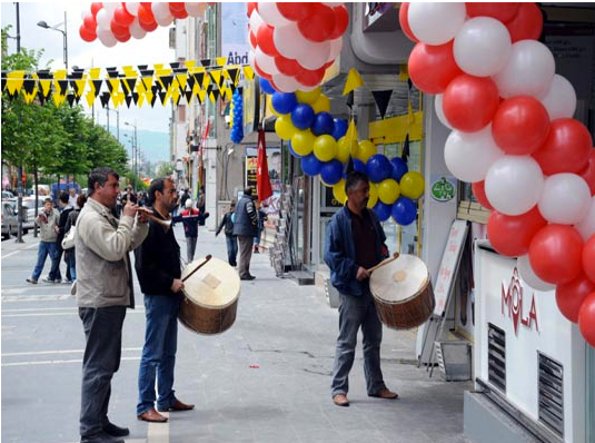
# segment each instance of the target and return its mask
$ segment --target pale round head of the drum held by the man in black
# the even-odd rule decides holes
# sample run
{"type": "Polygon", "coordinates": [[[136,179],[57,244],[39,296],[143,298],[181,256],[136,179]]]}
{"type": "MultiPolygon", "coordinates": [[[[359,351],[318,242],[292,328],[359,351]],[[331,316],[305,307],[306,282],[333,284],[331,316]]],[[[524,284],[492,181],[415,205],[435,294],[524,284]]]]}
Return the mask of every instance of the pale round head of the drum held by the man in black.
{"type": "MultiPolygon", "coordinates": [[[[189,263],[181,273],[184,279],[205,262],[198,258],[189,263]]],[[[184,294],[194,303],[212,308],[222,308],[232,304],[239,295],[238,273],[219,258],[212,257],[184,282],[184,294]]]]}

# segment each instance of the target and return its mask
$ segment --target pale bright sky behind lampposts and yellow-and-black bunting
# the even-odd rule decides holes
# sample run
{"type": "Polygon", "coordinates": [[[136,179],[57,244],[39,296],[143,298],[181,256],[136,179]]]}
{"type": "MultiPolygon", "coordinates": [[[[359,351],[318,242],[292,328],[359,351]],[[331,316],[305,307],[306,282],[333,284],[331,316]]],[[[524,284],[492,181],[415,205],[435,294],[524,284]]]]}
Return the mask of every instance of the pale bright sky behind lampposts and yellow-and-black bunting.
{"type": "MultiPolygon", "coordinates": [[[[73,66],[86,69],[91,67],[121,68],[122,66],[168,63],[175,60],[175,51],[169,49],[169,27],[158,27],[155,31],[147,32],[145,38],[140,40],[131,38],[126,43],[118,42],[115,47],[107,48],[99,40],[89,43],[80,38],[79,28],[82,24],[82,13],[90,12],[90,1],[20,2],[19,4],[21,48],[44,49],[40,68],[46,67],[50,59],[53,59],[53,62],[50,65],[52,70],[65,68],[62,33],[37,26],[39,21],[43,20],[50,27],[63,30],[65,11],[67,12],[69,68],[73,66]]],[[[1,7],[2,28],[12,24],[10,36],[16,36],[17,14],[14,3],[2,2],[1,7]]],[[[9,52],[14,52],[16,48],[16,40],[9,39],[9,52]]],[[[105,71],[102,71],[102,76],[105,76],[105,71]]],[[[83,101],[81,100],[81,104],[83,101]]],[[[83,106],[87,107],[86,104],[83,106]]],[[[157,100],[153,108],[145,105],[140,109],[135,106],[128,109],[123,106],[119,107],[118,110],[120,114],[120,128],[122,128],[125,121],[131,125],[136,121],[139,130],[169,131],[170,105],[163,107],[157,100]]],[[[87,111],[90,116],[91,109],[87,109],[87,111]]],[[[101,126],[106,126],[107,112],[105,109],[101,109],[99,100],[96,100],[95,112],[96,121],[101,126]]],[[[116,125],[116,112],[110,112],[110,127],[116,125]]]]}

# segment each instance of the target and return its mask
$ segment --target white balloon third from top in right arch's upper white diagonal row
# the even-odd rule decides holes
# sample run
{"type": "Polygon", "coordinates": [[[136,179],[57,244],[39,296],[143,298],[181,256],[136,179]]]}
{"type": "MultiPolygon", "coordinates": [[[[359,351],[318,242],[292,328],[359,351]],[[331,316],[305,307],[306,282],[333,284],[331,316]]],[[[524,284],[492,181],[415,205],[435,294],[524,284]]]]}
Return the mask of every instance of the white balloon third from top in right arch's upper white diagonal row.
{"type": "Polygon", "coordinates": [[[544,95],[556,72],[552,51],[537,40],[520,40],[513,45],[504,68],[493,78],[503,98],[544,95]]]}

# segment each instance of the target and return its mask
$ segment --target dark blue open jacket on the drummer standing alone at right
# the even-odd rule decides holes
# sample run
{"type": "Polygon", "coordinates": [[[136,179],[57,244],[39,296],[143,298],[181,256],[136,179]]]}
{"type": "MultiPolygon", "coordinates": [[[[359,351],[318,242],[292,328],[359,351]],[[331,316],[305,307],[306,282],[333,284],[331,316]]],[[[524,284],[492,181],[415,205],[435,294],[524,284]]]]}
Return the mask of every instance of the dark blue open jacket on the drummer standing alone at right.
{"type": "MultiPolygon", "coordinates": [[[[377,263],[386,257],[383,254],[386,235],[373,210],[365,209],[364,217],[370,217],[375,232],[375,248],[377,263]]],[[[339,209],[330,219],[325,236],[325,262],[330,268],[330,283],[340,293],[361,295],[363,283],[358,282],[356,247],[351,230],[351,213],[347,205],[339,209]]],[[[368,284],[365,282],[364,284],[368,284]]]]}

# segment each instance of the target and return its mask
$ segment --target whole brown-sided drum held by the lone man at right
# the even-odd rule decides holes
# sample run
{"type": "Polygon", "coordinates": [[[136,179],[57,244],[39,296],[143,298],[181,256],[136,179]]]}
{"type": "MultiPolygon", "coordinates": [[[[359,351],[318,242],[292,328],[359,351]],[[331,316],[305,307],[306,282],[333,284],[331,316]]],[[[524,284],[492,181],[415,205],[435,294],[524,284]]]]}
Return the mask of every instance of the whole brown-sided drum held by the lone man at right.
{"type": "Polygon", "coordinates": [[[422,325],[436,305],[428,269],[415,255],[400,255],[374,270],[370,292],[380,322],[395,329],[422,325]]]}

